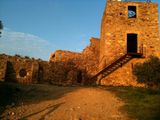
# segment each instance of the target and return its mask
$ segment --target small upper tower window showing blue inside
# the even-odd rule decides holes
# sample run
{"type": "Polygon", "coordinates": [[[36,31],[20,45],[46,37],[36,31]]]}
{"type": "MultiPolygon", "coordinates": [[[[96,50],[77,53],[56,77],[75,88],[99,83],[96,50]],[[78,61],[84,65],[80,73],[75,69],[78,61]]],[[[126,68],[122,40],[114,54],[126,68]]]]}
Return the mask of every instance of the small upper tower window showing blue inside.
{"type": "Polygon", "coordinates": [[[128,18],[136,18],[137,10],[136,6],[128,6],[128,18]]]}

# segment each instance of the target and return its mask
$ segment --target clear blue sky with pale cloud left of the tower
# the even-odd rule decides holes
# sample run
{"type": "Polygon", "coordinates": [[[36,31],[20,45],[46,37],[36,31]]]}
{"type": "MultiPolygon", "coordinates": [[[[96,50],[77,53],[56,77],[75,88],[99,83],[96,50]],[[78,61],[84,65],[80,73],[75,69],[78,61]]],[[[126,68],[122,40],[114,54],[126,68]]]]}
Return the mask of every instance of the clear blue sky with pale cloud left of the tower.
{"type": "Polygon", "coordinates": [[[0,53],[48,60],[57,49],[81,52],[91,37],[99,38],[105,4],[106,0],[0,0],[0,53]]]}

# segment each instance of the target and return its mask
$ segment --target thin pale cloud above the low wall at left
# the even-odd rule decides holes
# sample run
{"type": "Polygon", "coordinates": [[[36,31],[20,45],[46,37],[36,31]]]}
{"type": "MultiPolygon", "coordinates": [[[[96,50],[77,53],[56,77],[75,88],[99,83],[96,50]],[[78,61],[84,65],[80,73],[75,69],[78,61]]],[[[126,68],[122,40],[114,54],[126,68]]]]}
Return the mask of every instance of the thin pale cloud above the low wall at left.
{"type": "Polygon", "coordinates": [[[51,50],[55,48],[49,41],[38,36],[14,32],[8,28],[4,29],[0,38],[0,53],[10,55],[20,54],[48,60],[50,52],[53,52],[51,50]]]}

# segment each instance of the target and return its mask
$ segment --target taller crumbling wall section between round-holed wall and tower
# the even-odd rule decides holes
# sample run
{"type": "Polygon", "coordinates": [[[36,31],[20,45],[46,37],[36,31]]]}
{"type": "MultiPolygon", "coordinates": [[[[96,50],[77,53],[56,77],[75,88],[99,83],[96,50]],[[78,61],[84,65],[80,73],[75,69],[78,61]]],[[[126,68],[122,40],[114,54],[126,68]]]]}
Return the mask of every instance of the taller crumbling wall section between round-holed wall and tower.
{"type": "Polygon", "coordinates": [[[91,38],[82,53],[58,50],[50,56],[52,83],[94,84],[90,78],[98,71],[99,39],[91,38]],[[54,79],[53,79],[54,78],[54,79]]]}

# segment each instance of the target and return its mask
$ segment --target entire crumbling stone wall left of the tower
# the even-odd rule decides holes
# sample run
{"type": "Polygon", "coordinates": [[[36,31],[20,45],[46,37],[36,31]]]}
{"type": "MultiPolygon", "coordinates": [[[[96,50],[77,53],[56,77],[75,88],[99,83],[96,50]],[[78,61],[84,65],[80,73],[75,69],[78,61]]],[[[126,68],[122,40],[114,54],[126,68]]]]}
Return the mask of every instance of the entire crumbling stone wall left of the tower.
{"type": "Polygon", "coordinates": [[[49,62],[28,57],[0,55],[0,80],[18,83],[56,85],[93,84],[90,77],[98,71],[99,39],[82,53],[57,50],[49,62]]]}

